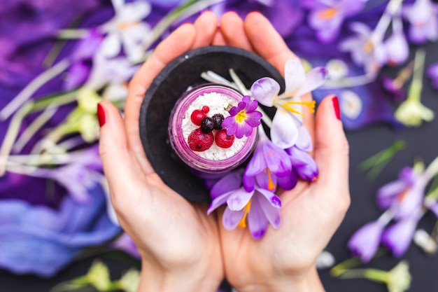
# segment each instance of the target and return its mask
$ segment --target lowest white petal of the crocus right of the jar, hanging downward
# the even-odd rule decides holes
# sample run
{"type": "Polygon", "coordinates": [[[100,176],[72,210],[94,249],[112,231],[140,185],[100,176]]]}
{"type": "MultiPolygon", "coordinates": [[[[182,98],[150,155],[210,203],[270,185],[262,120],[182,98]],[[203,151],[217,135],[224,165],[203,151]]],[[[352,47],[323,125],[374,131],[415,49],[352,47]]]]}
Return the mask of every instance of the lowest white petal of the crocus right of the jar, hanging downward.
{"type": "Polygon", "coordinates": [[[295,145],[298,129],[290,113],[277,109],[271,127],[271,140],[276,146],[285,149],[295,145]]]}

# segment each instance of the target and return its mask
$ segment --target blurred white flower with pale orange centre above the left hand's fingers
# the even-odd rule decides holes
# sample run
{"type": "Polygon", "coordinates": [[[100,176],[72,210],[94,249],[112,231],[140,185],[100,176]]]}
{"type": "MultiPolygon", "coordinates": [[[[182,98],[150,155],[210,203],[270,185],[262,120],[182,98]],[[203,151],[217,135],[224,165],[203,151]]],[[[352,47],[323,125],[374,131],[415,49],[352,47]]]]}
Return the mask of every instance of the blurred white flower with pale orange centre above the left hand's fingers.
{"type": "Polygon", "coordinates": [[[122,46],[131,62],[139,62],[144,55],[143,41],[150,36],[150,27],[142,22],[150,13],[150,4],[144,1],[124,3],[113,0],[115,16],[101,25],[101,31],[107,33],[101,50],[105,57],[116,57],[122,46]]]}

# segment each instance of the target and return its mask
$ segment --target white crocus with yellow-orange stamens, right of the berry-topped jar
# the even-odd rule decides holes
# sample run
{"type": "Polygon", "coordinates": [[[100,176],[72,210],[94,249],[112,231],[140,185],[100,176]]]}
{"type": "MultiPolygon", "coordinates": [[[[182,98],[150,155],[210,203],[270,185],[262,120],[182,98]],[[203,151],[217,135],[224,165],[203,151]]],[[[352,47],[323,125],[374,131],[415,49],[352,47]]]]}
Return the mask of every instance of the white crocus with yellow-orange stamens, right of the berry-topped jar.
{"type": "Polygon", "coordinates": [[[298,127],[302,124],[302,106],[314,112],[315,102],[302,102],[301,97],[318,88],[327,78],[327,69],[317,67],[305,73],[298,59],[285,64],[285,92],[281,95],[280,85],[272,78],[255,81],[251,94],[264,106],[275,106],[277,111],[271,126],[271,140],[280,148],[292,147],[298,139],[298,127]]]}

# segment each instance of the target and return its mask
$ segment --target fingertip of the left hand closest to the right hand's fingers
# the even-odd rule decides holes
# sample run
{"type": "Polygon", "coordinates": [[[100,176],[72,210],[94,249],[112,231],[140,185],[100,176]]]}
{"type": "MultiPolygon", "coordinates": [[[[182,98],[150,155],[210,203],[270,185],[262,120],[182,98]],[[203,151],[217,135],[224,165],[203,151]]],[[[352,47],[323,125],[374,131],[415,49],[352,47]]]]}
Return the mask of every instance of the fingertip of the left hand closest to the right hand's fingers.
{"type": "Polygon", "coordinates": [[[193,24],[196,29],[196,39],[192,49],[210,46],[218,31],[218,18],[211,11],[204,11],[193,24]]]}

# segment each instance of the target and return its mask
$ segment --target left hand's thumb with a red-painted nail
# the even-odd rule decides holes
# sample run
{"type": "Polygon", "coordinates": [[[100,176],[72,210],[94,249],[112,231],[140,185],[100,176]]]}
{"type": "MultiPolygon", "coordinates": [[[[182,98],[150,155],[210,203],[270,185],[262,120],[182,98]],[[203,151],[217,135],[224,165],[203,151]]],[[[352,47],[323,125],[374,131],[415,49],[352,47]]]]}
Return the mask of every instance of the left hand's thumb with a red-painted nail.
{"type": "Polygon", "coordinates": [[[111,195],[129,194],[131,192],[128,192],[125,186],[129,186],[129,181],[138,178],[141,172],[136,168],[134,158],[129,152],[122,116],[111,102],[100,102],[97,111],[101,123],[99,154],[110,184],[111,195]]]}

